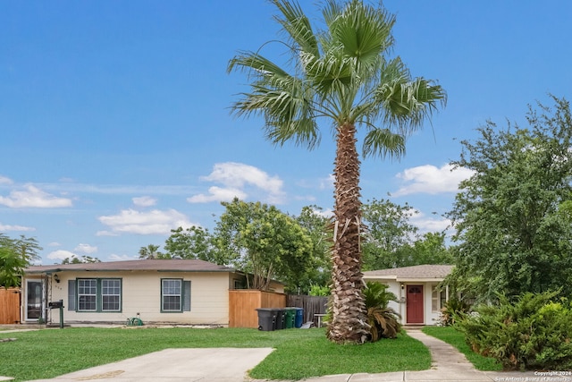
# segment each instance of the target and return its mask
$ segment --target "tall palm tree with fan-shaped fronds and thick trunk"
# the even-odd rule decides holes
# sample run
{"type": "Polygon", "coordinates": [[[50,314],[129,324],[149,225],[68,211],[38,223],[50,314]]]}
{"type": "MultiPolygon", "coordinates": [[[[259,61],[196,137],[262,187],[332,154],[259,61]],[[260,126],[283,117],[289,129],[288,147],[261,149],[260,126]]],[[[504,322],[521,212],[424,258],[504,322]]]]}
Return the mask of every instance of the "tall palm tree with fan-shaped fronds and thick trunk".
{"type": "MultiPolygon", "coordinates": [[[[313,149],[318,120],[332,123],[336,140],[332,223],[332,322],[336,343],[362,343],[368,325],[362,289],[357,127],[365,130],[363,154],[400,157],[405,139],[422,126],[446,95],[441,86],[413,79],[400,58],[390,58],[393,15],[351,0],[325,0],[324,30],[315,32],[295,1],[271,0],[290,52],[291,71],[258,52],[240,51],[229,72],[251,76],[250,91],[233,104],[235,115],[263,115],[274,144],[293,140],[313,149]]],[[[290,66],[289,66],[290,67],[290,66]]]]}

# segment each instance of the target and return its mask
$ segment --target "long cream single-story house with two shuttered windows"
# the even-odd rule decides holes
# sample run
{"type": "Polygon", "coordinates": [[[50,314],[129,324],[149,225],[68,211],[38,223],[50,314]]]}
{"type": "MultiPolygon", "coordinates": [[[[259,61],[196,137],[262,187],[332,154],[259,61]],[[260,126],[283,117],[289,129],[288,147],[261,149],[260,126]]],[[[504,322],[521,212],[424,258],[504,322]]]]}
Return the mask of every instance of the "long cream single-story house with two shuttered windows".
{"type": "MultiPolygon", "coordinates": [[[[28,267],[22,276],[23,322],[229,325],[229,291],[245,275],[199,259],[141,259],[28,267]]],[[[283,285],[271,289],[283,293],[283,285]]]]}

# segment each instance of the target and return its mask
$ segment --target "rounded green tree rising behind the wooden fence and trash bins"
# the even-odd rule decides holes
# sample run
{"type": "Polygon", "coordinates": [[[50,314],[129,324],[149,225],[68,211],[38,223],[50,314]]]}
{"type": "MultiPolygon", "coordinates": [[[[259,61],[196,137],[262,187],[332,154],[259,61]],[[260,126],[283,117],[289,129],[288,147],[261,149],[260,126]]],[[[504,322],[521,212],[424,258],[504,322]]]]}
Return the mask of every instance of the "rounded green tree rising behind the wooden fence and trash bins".
{"type": "Polygon", "coordinates": [[[293,218],[260,202],[223,202],[216,225],[219,248],[234,267],[254,275],[248,287],[265,290],[271,278],[298,291],[314,266],[312,240],[293,218]],[[250,284],[251,283],[251,284],[250,284]]]}

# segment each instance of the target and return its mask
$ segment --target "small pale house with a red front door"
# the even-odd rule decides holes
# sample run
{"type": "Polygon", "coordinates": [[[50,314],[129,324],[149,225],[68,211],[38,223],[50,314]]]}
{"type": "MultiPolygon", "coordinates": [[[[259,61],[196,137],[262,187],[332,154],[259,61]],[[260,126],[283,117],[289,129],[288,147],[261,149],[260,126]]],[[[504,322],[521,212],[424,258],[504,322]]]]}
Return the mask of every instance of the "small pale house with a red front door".
{"type": "Polygon", "coordinates": [[[364,272],[364,281],[375,281],[389,286],[399,302],[389,306],[400,313],[404,325],[436,325],[442,306],[449,301],[449,288],[437,285],[450,274],[453,266],[421,265],[396,267],[364,272]]]}

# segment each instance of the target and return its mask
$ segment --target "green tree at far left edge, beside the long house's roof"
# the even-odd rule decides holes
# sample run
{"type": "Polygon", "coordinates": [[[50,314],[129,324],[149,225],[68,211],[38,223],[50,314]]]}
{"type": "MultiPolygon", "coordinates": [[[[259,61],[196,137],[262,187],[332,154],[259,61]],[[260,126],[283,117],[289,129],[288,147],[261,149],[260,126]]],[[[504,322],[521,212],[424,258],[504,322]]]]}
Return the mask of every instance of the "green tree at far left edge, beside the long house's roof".
{"type": "Polygon", "coordinates": [[[35,238],[13,239],[0,233],[0,286],[20,285],[24,269],[39,259],[41,249],[35,238]]]}

